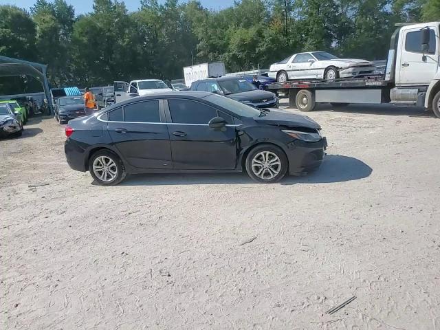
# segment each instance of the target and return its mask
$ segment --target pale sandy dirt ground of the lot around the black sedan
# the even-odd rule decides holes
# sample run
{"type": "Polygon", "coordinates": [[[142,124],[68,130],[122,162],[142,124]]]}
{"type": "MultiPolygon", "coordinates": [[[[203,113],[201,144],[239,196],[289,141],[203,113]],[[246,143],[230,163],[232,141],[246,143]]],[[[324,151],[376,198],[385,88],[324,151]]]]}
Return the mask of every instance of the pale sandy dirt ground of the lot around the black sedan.
{"type": "Polygon", "coordinates": [[[272,185],[103,188],[67,166],[52,118],[0,140],[1,329],[440,329],[440,120],[309,116],[325,162],[272,185]]]}

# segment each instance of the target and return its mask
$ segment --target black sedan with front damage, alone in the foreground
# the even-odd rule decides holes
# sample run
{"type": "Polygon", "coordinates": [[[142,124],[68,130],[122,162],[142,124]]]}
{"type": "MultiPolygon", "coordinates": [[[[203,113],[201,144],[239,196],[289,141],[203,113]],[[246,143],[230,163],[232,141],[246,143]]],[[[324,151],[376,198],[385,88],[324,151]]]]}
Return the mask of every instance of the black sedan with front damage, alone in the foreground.
{"type": "Polygon", "coordinates": [[[126,173],[240,172],[275,182],[320,166],[327,140],[303,115],[256,109],[217,94],[131,98],[66,126],[65,154],[98,184],[126,173]]]}

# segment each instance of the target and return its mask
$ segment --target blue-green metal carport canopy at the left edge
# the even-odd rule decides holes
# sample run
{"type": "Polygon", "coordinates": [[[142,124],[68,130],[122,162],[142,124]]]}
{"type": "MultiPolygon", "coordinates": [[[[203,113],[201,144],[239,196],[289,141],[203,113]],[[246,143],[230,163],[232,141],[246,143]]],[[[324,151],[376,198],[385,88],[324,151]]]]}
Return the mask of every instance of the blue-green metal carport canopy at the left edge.
{"type": "Polygon", "coordinates": [[[0,56],[0,77],[33,76],[42,84],[47,100],[47,106],[52,111],[52,98],[50,96],[49,82],[47,81],[47,65],[0,56]]]}

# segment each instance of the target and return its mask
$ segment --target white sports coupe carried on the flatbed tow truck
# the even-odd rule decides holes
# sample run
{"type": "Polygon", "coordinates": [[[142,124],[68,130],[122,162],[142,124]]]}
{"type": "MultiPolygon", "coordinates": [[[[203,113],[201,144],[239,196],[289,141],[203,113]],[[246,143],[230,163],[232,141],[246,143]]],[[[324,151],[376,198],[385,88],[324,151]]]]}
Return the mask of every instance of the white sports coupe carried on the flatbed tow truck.
{"type": "Polygon", "coordinates": [[[293,54],[270,66],[268,76],[280,83],[295,79],[351,78],[375,73],[374,63],[352,58],[338,58],[327,52],[293,54]]]}

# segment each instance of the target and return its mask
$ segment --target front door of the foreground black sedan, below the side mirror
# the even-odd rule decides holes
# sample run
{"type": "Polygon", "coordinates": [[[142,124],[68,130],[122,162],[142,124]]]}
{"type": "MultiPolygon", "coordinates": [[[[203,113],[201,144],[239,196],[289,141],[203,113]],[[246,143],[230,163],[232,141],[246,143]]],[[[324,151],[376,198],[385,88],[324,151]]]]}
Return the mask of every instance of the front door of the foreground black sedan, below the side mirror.
{"type": "Polygon", "coordinates": [[[166,114],[175,169],[236,168],[235,126],[231,123],[223,131],[208,126],[208,122],[217,115],[221,116],[221,112],[196,100],[170,98],[166,114]]]}

